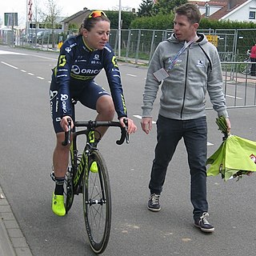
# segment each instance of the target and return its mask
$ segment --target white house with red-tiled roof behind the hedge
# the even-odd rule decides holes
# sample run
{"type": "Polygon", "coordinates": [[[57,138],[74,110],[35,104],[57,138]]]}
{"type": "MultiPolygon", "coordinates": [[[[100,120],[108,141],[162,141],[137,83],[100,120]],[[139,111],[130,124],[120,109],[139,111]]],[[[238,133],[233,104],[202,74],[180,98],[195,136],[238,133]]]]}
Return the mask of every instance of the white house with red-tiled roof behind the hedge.
{"type": "Polygon", "coordinates": [[[256,23],[256,0],[190,1],[196,3],[203,18],[256,23]]]}

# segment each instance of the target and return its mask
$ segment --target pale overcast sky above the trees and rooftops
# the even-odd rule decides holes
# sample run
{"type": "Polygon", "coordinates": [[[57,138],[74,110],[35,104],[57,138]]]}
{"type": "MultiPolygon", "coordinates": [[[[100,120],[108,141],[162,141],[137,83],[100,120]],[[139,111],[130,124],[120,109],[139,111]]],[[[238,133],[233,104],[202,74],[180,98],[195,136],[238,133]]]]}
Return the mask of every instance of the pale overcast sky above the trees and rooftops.
{"type": "MultiPolygon", "coordinates": [[[[83,8],[89,10],[118,10],[119,2],[122,9],[135,8],[138,11],[142,0],[54,0],[57,6],[62,10],[62,16],[68,17],[77,13],[83,8]]],[[[4,13],[18,13],[18,25],[25,26],[26,24],[26,5],[27,0],[0,0],[0,25],[4,25],[4,13]]],[[[33,4],[38,2],[38,6],[46,6],[46,0],[32,0],[33,4]]]]}

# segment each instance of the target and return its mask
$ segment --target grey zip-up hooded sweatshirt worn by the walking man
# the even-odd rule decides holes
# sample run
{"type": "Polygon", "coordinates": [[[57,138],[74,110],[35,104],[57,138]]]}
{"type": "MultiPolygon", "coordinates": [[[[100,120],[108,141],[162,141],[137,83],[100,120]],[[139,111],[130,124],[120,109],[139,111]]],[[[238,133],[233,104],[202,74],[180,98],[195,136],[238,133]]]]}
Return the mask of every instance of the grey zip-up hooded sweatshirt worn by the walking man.
{"type": "Polygon", "coordinates": [[[226,100],[222,90],[222,68],[218,51],[198,34],[193,42],[179,55],[177,62],[168,70],[170,62],[182,49],[185,42],[179,42],[174,34],[160,42],[150,61],[146,86],[143,94],[142,117],[151,117],[154,100],[159,86],[162,89],[159,114],[166,118],[188,120],[205,116],[206,92],[218,116],[228,118],[226,100]],[[170,74],[162,82],[154,72],[164,68],[170,74]]]}

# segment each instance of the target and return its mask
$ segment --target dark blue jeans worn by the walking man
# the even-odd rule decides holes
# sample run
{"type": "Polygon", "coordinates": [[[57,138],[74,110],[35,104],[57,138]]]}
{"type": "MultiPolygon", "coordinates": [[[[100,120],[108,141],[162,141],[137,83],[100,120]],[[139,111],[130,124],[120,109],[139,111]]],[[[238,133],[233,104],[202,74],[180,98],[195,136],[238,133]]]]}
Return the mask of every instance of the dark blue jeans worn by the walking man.
{"type": "Polygon", "coordinates": [[[161,194],[166,170],[181,138],[184,139],[190,166],[190,199],[194,206],[194,219],[208,211],[206,200],[206,117],[192,120],[174,120],[158,116],[158,143],[151,170],[150,193],[161,194]]]}

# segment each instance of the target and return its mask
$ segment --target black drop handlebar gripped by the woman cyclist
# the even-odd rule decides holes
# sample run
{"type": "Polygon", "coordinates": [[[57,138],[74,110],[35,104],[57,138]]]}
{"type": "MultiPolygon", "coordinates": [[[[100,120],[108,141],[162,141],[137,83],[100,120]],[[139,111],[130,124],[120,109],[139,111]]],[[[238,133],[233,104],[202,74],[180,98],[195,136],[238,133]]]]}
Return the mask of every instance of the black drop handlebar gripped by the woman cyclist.
{"type": "MultiPolygon", "coordinates": [[[[116,141],[118,145],[122,145],[122,143],[126,140],[126,143],[129,143],[129,134],[127,133],[128,127],[128,120],[124,119],[124,123],[126,127],[122,127],[120,122],[115,121],[86,121],[86,122],[74,122],[75,127],[87,127],[88,130],[94,130],[99,126],[113,126],[119,127],[121,130],[121,138],[116,141]]],[[[62,142],[62,146],[66,146],[70,144],[70,137],[71,137],[71,119],[68,119],[68,131],[65,132],[65,140],[62,142]]]]}

